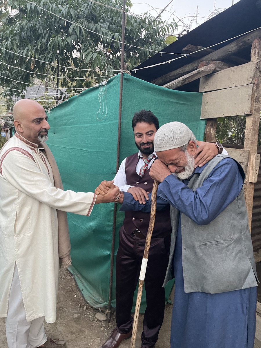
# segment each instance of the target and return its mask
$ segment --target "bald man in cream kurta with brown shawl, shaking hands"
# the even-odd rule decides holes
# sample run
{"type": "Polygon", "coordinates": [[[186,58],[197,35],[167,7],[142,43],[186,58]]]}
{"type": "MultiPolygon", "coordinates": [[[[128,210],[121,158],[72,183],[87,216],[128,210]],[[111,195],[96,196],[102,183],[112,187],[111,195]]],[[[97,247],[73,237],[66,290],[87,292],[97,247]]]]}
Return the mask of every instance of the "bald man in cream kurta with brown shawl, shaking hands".
{"type": "Polygon", "coordinates": [[[89,216],[120,192],[113,184],[105,196],[64,191],[44,108],[23,99],[13,115],[16,134],[0,151],[0,317],[9,348],[65,348],[46,337],[44,321],[56,320],[59,261],[71,264],[66,212],[89,216]]]}

